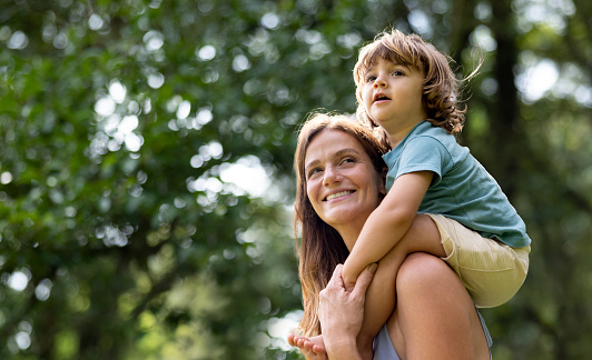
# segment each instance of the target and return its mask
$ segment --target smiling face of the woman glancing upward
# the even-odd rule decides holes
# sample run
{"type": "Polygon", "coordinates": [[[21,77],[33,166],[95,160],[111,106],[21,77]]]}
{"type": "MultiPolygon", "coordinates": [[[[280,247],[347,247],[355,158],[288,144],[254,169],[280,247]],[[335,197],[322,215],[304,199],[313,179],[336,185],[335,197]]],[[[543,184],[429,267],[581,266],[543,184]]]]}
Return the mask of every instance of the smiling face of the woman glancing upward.
{"type": "Polygon", "coordinates": [[[339,130],[317,133],[305,154],[306,193],[315,212],[339,231],[366,221],[386,190],[363,146],[339,130]]]}

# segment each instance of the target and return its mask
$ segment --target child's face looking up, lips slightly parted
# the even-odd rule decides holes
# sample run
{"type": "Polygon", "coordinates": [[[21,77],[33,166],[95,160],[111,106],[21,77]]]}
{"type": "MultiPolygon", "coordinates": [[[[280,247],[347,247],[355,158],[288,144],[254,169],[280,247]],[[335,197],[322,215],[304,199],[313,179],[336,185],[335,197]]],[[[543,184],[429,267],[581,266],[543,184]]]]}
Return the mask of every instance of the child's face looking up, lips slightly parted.
{"type": "Polygon", "coordinates": [[[362,88],[364,109],[398,143],[426,118],[420,70],[378,58],[366,71],[362,88]]]}

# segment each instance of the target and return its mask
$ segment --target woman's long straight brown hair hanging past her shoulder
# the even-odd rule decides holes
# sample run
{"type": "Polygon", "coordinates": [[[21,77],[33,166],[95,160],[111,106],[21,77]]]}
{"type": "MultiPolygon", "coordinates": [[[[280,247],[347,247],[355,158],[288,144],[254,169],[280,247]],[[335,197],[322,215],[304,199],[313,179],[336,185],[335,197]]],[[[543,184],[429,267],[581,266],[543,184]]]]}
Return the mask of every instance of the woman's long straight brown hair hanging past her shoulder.
{"type": "Polygon", "coordinates": [[[369,129],[355,119],[341,114],[315,113],[299,131],[298,146],[294,156],[294,170],[297,177],[294,228],[304,302],[304,316],[298,330],[306,337],[322,332],[317,317],[318,293],[327,286],[335,267],[344,263],[349,254],[342,236],[318,217],[306,192],[304,171],[306,151],[310,141],[324,130],[343,131],[358,140],[369,156],[376,169],[376,176],[381,176],[386,167],[382,156],[387,148],[374,137],[369,129]],[[298,241],[298,230],[300,241],[298,241]]]}

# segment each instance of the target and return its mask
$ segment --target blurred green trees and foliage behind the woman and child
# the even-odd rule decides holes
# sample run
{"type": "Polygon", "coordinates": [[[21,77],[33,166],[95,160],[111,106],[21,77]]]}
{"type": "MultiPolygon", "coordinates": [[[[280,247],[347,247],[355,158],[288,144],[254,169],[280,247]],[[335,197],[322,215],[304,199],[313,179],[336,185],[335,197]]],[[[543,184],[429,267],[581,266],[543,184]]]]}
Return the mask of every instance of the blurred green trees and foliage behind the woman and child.
{"type": "Polygon", "coordinates": [[[1,0],[0,358],[302,359],[296,130],[389,27],[485,58],[462,142],[533,239],[494,359],[590,358],[589,0],[1,0]]]}

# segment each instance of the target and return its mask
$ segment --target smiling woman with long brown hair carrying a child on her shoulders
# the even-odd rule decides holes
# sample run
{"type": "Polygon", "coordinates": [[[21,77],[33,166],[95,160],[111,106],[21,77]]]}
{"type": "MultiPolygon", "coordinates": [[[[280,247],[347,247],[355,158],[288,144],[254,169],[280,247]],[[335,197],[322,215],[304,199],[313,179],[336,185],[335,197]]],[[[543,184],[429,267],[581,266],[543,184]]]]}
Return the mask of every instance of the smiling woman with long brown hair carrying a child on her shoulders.
{"type": "MultiPolygon", "coordinates": [[[[302,231],[299,276],[305,311],[299,330],[304,337],[290,336],[288,341],[309,359],[332,356],[333,350],[325,349],[322,339],[312,338],[320,334],[319,293],[337,264],[345,261],[367,217],[386,193],[382,160],[385,151],[369,130],[344,116],[316,114],[300,130],[295,154],[298,177],[295,226],[302,231]]],[[[402,246],[421,241],[417,228],[425,228],[425,221],[431,219],[417,214],[405,234],[408,240],[402,241],[402,246]]],[[[432,231],[437,232],[437,228],[434,226],[432,231]]],[[[406,253],[410,252],[413,251],[406,253]]],[[[393,359],[397,354],[422,359],[489,358],[478,314],[458,277],[434,256],[414,253],[406,259],[398,256],[399,251],[396,254],[391,251],[378,262],[367,290],[368,298],[387,299],[395,308],[396,289],[394,312],[385,319],[382,330],[371,331],[373,338],[381,330],[375,359],[384,349],[393,350],[393,359]],[[389,267],[396,262],[403,264],[395,287],[389,267]]],[[[336,316],[344,313],[336,311],[336,316]]],[[[359,336],[357,348],[364,348],[372,338],[359,336]]],[[[367,352],[358,356],[372,358],[367,352]]]]}

